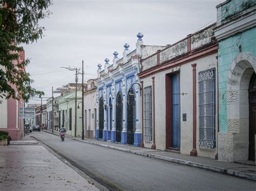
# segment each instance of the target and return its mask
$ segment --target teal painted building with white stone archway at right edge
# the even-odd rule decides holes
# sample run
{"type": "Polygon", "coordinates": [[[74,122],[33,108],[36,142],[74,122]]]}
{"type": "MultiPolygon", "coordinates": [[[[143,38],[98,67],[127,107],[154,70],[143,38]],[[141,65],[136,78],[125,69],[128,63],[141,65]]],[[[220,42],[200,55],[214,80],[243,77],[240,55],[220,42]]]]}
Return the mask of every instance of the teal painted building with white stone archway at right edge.
{"type": "Polygon", "coordinates": [[[233,0],[217,6],[218,158],[223,161],[255,161],[255,5],[255,0],[233,0]]]}

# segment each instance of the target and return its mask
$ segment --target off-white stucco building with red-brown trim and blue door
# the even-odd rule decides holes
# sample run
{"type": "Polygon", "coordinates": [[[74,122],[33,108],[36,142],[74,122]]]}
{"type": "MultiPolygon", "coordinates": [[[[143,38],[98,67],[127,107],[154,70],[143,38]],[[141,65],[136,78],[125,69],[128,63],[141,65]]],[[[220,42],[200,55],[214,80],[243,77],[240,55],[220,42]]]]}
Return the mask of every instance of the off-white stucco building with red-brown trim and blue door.
{"type": "Polygon", "coordinates": [[[218,77],[215,24],[142,59],[143,144],[217,157],[218,77]]]}

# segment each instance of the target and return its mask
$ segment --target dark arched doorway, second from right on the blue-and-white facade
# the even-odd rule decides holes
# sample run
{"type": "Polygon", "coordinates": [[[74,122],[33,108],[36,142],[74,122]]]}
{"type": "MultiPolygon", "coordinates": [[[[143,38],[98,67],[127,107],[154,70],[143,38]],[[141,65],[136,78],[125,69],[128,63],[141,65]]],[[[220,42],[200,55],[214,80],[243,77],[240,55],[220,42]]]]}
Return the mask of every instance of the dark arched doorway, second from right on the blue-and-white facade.
{"type": "Polygon", "coordinates": [[[120,91],[117,93],[116,100],[116,142],[121,142],[121,132],[123,124],[123,103],[122,103],[122,93],[120,91]]]}

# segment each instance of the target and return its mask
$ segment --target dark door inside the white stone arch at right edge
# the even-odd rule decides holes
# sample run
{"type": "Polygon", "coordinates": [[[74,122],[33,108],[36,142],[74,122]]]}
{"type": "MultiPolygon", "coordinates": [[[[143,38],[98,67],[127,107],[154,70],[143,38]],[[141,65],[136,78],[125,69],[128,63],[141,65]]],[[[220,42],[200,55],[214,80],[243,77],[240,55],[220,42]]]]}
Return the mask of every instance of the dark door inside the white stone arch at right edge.
{"type": "Polygon", "coordinates": [[[248,89],[249,94],[249,160],[255,160],[256,132],[256,75],[253,73],[248,89]]]}

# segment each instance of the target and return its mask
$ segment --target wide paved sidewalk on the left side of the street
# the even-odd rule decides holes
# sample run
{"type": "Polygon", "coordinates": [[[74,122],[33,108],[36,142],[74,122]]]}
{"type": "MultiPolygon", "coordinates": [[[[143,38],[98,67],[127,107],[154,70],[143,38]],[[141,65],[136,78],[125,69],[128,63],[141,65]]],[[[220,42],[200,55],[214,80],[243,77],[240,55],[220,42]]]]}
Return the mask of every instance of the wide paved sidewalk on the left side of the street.
{"type": "Polygon", "coordinates": [[[0,155],[0,190],[98,190],[33,140],[0,146],[0,155]]]}

